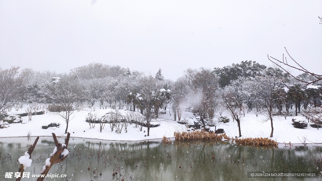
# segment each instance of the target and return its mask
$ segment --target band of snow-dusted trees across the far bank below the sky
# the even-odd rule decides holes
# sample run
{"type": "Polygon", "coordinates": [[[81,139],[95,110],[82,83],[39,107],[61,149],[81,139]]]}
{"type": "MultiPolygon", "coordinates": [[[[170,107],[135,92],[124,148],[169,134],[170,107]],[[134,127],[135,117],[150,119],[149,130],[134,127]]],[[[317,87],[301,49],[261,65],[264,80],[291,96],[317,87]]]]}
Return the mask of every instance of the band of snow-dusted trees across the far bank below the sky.
{"type": "Polygon", "coordinates": [[[153,76],[102,63],[90,63],[60,74],[0,68],[0,115],[23,106],[30,112],[59,108],[58,114],[67,123],[67,133],[74,111],[84,106],[94,109],[94,104],[99,104],[99,109],[138,111],[146,119],[149,136],[150,121],[161,110],[172,110],[174,120],[181,120],[183,111],[191,111],[204,130],[207,124],[216,124],[217,112],[227,110],[237,121],[242,136],[240,122],[246,112],[253,111],[256,116],[267,115],[272,137],[273,116],[286,118],[293,108],[296,115],[311,114],[311,122],[322,124],[318,115],[306,111],[322,104],[322,81],[316,79],[307,72],[292,77],[280,67],[252,61],[223,68],[187,69],[175,81],[164,79],[161,69],[153,76]]]}

